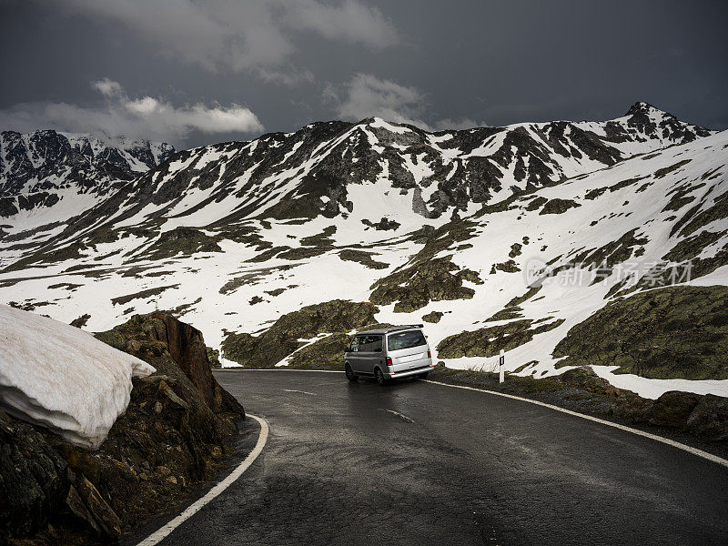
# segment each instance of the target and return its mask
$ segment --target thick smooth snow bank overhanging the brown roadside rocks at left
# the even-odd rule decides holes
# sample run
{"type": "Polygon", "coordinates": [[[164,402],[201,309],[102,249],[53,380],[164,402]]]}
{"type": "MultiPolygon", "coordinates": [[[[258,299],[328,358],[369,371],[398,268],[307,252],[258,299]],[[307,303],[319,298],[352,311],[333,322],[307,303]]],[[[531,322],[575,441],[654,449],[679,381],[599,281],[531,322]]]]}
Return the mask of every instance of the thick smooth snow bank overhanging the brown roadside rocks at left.
{"type": "Polygon", "coordinates": [[[91,334],[0,305],[0,408],[96,450],[155,369],[91,334]]]}

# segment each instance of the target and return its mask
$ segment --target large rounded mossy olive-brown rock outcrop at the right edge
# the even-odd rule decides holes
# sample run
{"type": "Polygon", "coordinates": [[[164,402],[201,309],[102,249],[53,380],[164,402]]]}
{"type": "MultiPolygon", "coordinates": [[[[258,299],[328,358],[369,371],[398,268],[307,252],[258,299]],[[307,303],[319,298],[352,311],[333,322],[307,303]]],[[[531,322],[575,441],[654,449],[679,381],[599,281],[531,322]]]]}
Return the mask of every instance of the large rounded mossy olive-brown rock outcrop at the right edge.
{"type": "Polygon", "coordinates": [[[728,378],[728,288],[668,287],[623,298],[569,330],[559,366],[619,366],[653,379],[728,378]]]}

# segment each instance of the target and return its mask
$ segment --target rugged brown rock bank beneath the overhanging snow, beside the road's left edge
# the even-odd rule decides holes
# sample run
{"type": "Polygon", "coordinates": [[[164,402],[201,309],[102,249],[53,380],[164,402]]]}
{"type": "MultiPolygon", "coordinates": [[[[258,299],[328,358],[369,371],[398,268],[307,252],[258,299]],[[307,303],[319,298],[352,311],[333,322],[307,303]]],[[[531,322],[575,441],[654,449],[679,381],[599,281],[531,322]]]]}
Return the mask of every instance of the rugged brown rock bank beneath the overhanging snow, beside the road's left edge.
{"type": "Polygon", "coordinates": [[[212,377],[197,329],[155,312],[96,336],[157,372],[134,380],[96,451],[0,412],[0,541],[116,541],[177,508],[231,454],[244,410],[212,377]]]}

